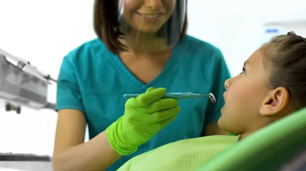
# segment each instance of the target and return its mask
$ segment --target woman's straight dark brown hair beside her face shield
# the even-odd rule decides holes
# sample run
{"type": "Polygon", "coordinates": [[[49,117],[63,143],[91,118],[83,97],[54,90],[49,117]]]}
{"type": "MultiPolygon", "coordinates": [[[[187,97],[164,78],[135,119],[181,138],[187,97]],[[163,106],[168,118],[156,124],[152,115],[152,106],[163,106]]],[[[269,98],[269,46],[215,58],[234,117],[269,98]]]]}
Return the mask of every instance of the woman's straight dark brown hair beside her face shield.
{"type": "MultiPolygon", "coordinates": [[[[181,1],[177,1],[181,2],[181,1]]],[[[186,0],[187,5],[187,0],[186,0]]],[[[98,38],[105,43],[107,48],[114,54],[119,51],[126,51],[126,46],[119,42],[123,33],[119,30],[118,22],[118,0],[95,0],[93,10],[93,27],[98,38]]],[[[172,18],[172,17],[171,17],[172,18]]],[[[170,18],[170,19],[171,19],[170,18]]],[[[169,19],[169,20],[170,20],[169,19]]],[[[187,7],[184,27],[180,40],[186,35],[187,31],[187,7]]]]}

